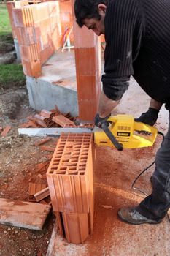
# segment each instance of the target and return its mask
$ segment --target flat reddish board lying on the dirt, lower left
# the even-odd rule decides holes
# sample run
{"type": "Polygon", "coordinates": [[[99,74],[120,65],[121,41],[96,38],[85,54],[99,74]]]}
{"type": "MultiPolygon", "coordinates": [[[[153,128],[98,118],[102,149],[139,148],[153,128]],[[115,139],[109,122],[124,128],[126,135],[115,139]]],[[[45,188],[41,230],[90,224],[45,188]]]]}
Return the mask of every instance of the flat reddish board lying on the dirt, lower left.
{"type": "Polygon", "coordinates": [[[42,230],[51,206],[0,198],[0,223],[42,230]]]}

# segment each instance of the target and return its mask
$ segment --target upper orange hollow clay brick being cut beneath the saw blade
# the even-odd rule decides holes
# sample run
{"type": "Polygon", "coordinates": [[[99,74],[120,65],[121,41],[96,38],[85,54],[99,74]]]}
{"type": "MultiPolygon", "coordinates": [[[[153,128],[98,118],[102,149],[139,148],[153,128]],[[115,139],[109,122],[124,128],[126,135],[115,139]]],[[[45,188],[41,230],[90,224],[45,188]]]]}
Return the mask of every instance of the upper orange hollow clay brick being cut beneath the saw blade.
{"type": "Polygon", "coordinates": [[[88,213],[93,201],[93,134],[64,134],[47,170],[54,211],[88,213]]]}

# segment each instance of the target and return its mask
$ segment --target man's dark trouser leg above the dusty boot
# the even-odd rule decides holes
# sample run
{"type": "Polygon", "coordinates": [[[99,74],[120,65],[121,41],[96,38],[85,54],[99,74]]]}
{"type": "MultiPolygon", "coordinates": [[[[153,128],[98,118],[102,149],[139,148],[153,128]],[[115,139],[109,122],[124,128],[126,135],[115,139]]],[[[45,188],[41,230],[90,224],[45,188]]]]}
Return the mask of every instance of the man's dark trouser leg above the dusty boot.
{"type": "MultiPolygon", "coordinates": [[[[170,119],[170,115],[169,115],[170,119]]],[[[152,194],[137,207],[137,211],[148,219],[165,217],[170,208],[170,120],[169,130],[155,157],[152,175],[152,194]]]]}

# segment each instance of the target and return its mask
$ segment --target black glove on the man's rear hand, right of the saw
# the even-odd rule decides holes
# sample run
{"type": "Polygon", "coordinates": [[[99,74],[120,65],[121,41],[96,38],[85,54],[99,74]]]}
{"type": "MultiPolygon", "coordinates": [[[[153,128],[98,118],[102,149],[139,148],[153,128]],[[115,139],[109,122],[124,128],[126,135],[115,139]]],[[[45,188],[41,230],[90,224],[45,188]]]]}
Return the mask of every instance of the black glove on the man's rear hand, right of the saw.
{"type": "Polygon", "coordinates": [[[135,118],[134,121],[141,121],[144,124],[153,125],[158,118],[159,110],[155,108],[149,108],[147,112],[142,113],[139,118],[135,118]]]}

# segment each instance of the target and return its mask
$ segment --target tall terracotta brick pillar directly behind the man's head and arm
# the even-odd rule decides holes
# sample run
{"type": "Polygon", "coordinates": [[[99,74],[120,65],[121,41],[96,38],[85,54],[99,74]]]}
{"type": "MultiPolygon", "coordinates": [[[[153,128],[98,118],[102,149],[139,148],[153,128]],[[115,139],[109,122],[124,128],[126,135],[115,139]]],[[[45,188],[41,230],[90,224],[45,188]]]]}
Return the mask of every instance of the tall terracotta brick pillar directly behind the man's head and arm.
{"type": "MultiPolygon", "coordinates": [[[[72,0],[74,4],[74,0],[72,0]]],[[[85,26],[73,22],[79,117],[92,121],[101,91],[100,38],[85,26]]]]}

